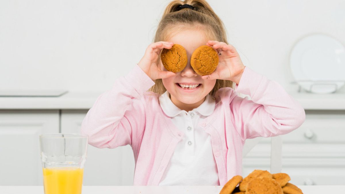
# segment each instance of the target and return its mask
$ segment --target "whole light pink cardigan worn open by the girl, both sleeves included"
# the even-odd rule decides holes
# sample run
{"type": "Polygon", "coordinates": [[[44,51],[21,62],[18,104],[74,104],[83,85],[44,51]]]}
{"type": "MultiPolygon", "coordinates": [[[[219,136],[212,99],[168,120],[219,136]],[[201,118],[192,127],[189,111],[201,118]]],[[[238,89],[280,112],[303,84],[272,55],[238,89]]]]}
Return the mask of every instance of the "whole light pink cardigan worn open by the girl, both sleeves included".
{"type": "MultiPolygon", "coordinates": [[[[184,136],[162,111],[155,83],[136,65],[100,95],[81,125],[89,144],[98,148],[131,145],[135,158],[134,185],[158,185],[176,144],[184,136]]],[[[305,112],[277,82],[245,67],[235,90],[218,90],[213,113],[199,124],[210,134],[219,183],[242,175],[245,140],[287,134],[305,120],[305,112]]],[[[207,176],[205,174],[205,176],[207,176]]]]}

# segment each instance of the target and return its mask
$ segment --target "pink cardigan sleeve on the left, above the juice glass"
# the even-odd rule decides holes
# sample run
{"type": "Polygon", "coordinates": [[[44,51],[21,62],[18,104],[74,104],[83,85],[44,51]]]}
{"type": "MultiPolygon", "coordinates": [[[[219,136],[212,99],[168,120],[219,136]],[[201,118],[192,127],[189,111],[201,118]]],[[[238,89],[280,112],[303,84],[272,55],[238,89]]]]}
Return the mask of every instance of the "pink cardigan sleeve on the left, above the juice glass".
{"type": "Polygon", "coordinates": [[[145,129],[144,92],[155,83],[136,65],[101,94],[81,124],[81,134],[98,148],[132,145],[145,129]]]}

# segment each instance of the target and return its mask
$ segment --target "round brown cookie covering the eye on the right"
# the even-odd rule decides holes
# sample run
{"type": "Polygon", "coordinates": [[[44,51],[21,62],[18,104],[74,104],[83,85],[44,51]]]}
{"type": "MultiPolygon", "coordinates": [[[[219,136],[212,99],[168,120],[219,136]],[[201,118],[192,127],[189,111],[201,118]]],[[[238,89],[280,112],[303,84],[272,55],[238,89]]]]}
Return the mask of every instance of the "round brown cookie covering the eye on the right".
{"type": "Polygon", "coordinates": [[[191,58],[190,65],[194,71],[203,76],[211,74],[218,65],[218,53],[212,47],[203,45],[195,49],[191,58]]]}

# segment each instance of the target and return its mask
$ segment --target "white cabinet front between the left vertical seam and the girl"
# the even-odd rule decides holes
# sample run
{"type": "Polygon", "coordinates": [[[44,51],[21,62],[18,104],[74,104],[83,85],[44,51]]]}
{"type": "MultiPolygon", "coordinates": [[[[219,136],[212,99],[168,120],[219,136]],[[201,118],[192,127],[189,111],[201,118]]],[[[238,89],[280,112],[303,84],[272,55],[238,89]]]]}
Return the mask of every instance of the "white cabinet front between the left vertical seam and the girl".
{"type": "MultiPolygon", "coordinates": [[[[62,110],[61,133],[80,133],[87,110],[62,110]]],[[[134,156],[132,148],[114,149],[88,145],[83,185],[133,185],[134,156]]]]}

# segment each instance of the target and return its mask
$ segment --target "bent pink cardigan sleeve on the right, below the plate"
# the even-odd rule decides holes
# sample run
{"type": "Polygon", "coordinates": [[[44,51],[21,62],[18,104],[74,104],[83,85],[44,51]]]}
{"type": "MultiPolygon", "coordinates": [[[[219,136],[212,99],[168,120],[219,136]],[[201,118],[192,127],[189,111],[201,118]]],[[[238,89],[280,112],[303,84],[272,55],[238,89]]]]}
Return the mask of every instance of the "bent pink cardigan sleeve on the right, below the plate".
{"type": "Polygon", "coordinates": [[[287,134],[305,120],[303,107],[281,85],[248,67],[235,91],[252,98],[239,97],[235,92],[230,101],[235,128],[243,141],[287,134]]]}

